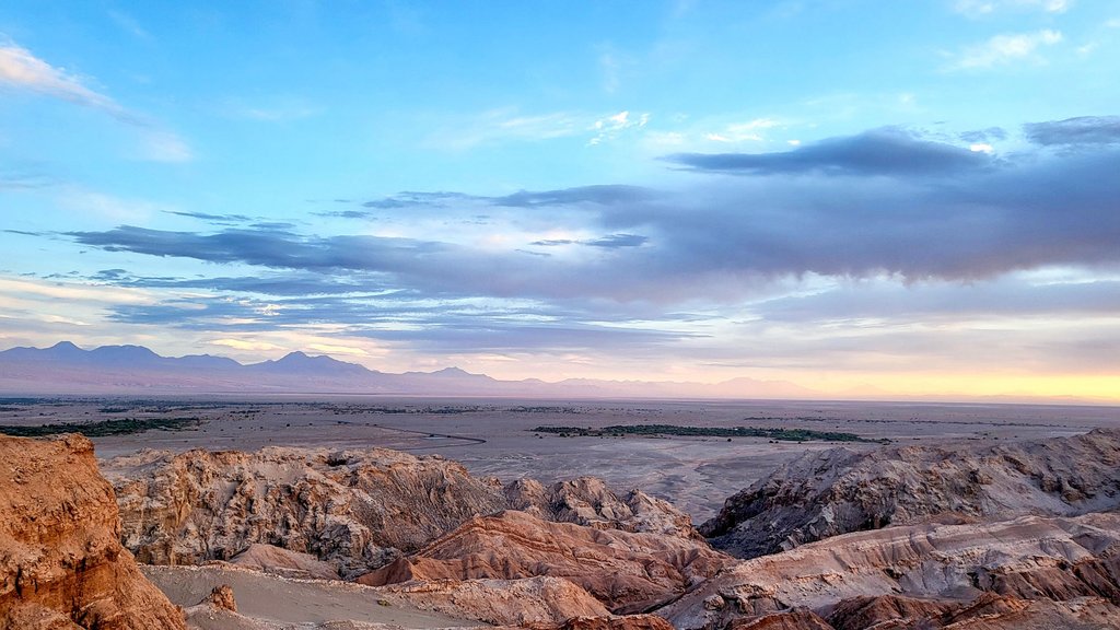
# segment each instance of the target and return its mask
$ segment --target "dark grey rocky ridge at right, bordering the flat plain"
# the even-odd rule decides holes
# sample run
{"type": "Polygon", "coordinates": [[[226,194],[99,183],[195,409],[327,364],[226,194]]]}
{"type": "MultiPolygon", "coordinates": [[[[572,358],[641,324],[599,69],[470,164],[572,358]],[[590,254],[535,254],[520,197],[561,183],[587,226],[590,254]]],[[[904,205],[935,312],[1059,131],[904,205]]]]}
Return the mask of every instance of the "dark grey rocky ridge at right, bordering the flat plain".
{"type": "Polygon", "coordinates": [[[804,456],[729,498],[700,526],[750,558],[933,515],[1075,516],[1120,507],[1120,430],[999,446],[834,448],[804,456]]]}

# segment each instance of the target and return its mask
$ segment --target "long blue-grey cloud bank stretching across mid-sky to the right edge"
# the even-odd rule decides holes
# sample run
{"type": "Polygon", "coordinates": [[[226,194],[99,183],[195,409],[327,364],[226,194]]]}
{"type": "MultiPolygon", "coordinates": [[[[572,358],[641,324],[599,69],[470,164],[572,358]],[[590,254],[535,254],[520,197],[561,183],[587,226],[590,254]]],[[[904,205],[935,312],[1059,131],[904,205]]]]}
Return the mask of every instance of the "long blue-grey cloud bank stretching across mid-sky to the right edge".
{"type": "MultiPolygon", "coordinates": [[[[548,207],[550,224],[524,240],[483,242],[455,231],[426,240],[307,235],[280,226],[202,233],[130,225],[67,237],[106,251],[271,269],[281,284],[283,275],[293,282],[321,275],[433,299],[597,308],[734,303],[804,277],[955,282],[1056,266],[1120,266],[1114,145],[995,159],[871,130],[786,154],[673,159],[701,172],[762,176],[696,178],[679,189],[523,192],[515,207],[548,207]],[[588,233],[605,235],[580,235],[588,233]],[[551,257],[521,251],[576,244],[586,247],[551,257]]],[[[524,234],[510,223],[523,215],[494,216],[486,230],[524,234]]]]}

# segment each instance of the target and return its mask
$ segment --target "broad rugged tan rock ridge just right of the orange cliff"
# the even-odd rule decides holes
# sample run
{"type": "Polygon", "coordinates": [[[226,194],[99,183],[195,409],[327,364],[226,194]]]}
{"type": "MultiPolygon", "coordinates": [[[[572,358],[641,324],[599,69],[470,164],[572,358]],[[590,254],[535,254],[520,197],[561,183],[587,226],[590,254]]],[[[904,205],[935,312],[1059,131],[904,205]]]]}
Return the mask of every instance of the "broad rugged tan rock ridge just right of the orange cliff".
{"type": "Polygon", "coordinates": [[[502,488],[432,455],[388,450],[143,452],[105,464],[141,562],[228,559],[254,543],[352,576],[505,507],[502,488]]]}

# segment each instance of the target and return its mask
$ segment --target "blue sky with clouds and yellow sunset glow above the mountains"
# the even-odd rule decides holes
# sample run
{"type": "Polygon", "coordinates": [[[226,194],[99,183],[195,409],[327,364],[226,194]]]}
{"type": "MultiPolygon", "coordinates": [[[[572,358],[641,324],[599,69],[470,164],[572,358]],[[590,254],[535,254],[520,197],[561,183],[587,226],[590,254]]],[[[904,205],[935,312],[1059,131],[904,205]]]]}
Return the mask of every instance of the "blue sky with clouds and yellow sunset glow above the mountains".
{"type": "Polygon", "coordinates": [[[0,346],[1120,401],[1120,1],[0,3],[0,346]]]}

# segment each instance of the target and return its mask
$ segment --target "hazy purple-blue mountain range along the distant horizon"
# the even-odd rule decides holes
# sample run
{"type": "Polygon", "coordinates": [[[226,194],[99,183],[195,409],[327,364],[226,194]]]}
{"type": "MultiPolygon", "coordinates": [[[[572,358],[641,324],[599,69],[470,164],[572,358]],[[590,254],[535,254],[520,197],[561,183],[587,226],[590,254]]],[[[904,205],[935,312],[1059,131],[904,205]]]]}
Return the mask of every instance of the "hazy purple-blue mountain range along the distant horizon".
{"type": "Polygon", "coordinates": [[[569,379],[497,380],[458,368],[390,373],[327,355],[291,352],[242,364],[225,356],[161,356],[141,345],[83,350],[50,348],[0,352],[0,395],[100,393],[348,393],[506,396],[541,398],[822,398],[787,381],[737,378],[719,383],[569,379]]]}

